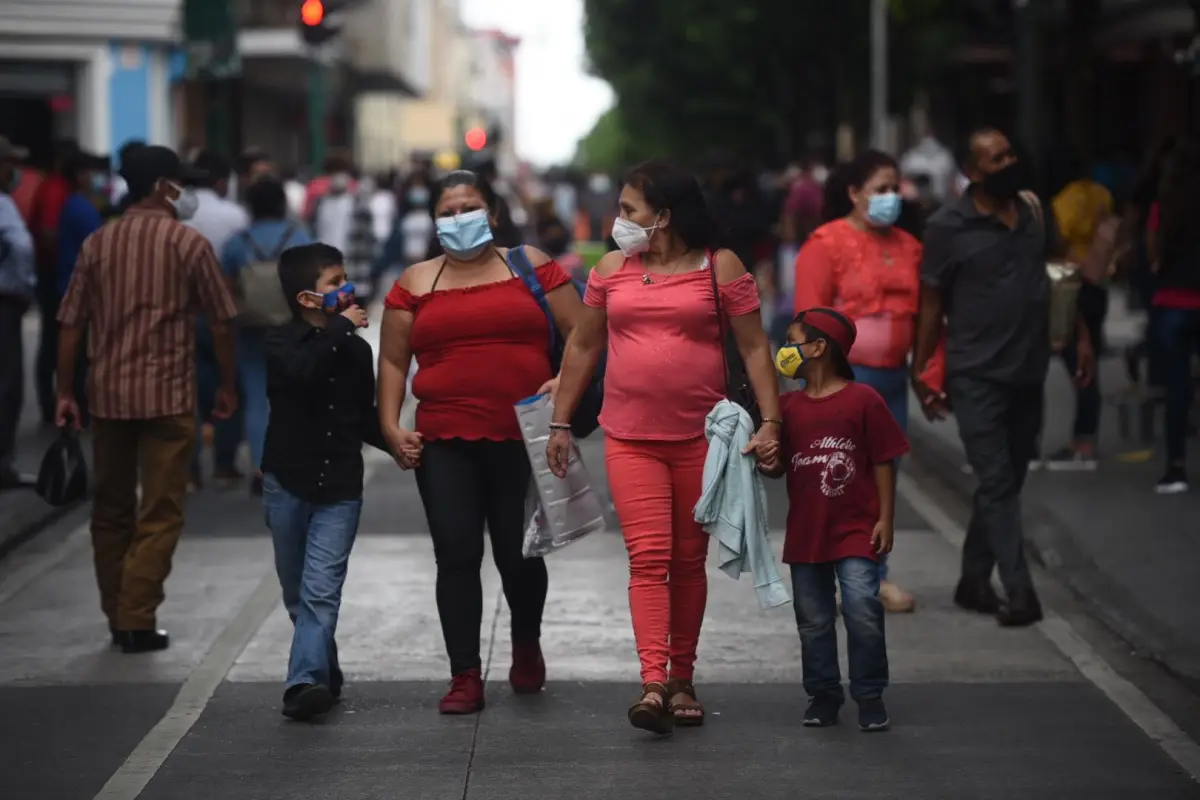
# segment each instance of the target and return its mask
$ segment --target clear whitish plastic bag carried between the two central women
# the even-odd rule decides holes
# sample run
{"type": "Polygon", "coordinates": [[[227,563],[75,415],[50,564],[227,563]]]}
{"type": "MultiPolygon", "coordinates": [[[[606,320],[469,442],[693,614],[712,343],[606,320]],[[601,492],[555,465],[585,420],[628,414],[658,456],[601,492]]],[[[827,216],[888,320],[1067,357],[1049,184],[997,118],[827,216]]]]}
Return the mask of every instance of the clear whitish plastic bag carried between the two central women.
{"type": "Polygon", "coordinates": [[[550,471],[546,441],[550,439],[550,420],[554,414],[550,396],[529,397],[514,409],[533,468],[533,481],[526,497],[529,522],[521,552],[526,558],[540,558],[577,542],[593,531],[604,530],[604,505],[592,491],[588,470],[574,439],[566,477],[559,479],[550,471]]]}

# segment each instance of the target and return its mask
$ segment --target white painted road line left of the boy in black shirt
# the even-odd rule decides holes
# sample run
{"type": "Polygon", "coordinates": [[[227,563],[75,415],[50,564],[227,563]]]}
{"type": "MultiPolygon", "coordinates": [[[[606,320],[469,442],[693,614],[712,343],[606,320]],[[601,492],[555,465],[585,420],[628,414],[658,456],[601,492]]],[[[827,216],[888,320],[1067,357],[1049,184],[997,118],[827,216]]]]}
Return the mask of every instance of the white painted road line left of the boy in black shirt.
{"type": "MultiPolygon", "coordinates": [[[[382,462],[364,464],[364,485],[370,483],[382,462]]],[[[167,758],[204,714],[214,692],[221,686],[234,662],[246,649],[266,618],[282,602],[278,578],[272,567],[254,589],[246,604],[226,626],[212,646],[184,681],[175,702],[162,720],[150,729],[138,746],[113,774],[95,800],[136,800],[162,769],[167,758]]]]}

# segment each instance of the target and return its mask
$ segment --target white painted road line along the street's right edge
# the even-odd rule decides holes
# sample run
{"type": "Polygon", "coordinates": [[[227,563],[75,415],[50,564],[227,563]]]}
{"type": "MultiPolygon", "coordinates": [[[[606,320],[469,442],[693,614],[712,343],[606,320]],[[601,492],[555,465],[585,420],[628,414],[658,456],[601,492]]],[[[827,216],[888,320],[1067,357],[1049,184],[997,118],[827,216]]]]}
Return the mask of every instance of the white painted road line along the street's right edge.
{"type": "MultiPolygon", "coordinates": [[[[925,522],[946,541],[962,547],[966,534],[907,475],[899,476],[898,489],[925,522]]],[[[1200,780],[1200,745],[1165,715],[1145,693],[1117,672],[1090,645],[1070,622],[1050,608],[1038,630],[1066,656],[1080,674],[1104,692],[1114,705],[1157,744],[1192,780],[1200,780]]]]}

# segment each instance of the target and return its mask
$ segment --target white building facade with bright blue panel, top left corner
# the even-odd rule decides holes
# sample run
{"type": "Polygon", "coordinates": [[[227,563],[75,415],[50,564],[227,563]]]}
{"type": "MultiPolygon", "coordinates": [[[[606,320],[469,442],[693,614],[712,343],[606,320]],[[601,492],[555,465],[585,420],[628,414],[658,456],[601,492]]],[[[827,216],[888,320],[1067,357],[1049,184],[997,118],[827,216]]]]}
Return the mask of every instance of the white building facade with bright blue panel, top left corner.
{"type": "Polygon", "coordinates": [[[0,2],[0,134],[44,161],[55,139],[115,152],[176,140],[182,0],[0,2]]]}

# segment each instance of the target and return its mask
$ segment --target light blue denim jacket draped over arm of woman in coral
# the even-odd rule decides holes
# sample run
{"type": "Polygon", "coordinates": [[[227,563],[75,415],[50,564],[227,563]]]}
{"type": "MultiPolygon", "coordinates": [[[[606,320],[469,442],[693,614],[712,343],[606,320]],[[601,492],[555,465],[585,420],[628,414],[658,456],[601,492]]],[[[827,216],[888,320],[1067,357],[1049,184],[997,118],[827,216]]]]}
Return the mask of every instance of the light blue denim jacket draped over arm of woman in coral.
{"type": "Polygon", "coordinates": [[[721,571],[733,579],[754,575],[760,608],[791,602],[767,533],[767,491],[754,456],[743,456],[754,433],[750,415],[721,401],[704,420],[708,456],[695,519],[718,542],[721,571]]]}

